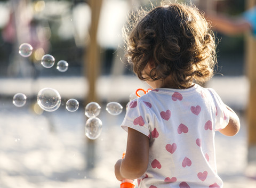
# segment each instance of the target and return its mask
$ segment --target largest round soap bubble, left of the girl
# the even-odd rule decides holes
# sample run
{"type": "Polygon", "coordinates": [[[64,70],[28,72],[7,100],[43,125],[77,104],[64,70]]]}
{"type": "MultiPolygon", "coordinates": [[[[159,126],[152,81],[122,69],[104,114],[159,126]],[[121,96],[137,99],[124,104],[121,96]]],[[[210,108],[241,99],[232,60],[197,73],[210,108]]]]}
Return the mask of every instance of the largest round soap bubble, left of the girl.
{"type": "Polygon", "coordinates": [[[53,88],[43,88],[37,94],[37,103],[43,110],[52,112],[60,107],[61,97],[53,88]]]}

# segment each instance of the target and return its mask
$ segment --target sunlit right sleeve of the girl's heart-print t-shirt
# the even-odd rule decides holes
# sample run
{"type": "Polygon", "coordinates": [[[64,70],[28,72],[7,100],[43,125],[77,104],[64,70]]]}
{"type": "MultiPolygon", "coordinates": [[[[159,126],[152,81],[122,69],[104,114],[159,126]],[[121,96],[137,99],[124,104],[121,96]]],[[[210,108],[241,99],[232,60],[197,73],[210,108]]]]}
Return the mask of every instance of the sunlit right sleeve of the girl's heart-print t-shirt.
{"type": "Polygon", "coordinates": [[[214,103],[215,103],[215,131],[221,130],[228,125],[229,122],[229,110],[226,104],[222,102],[220,96],[214,91],[214,89],[209,89],[214,103]]]}

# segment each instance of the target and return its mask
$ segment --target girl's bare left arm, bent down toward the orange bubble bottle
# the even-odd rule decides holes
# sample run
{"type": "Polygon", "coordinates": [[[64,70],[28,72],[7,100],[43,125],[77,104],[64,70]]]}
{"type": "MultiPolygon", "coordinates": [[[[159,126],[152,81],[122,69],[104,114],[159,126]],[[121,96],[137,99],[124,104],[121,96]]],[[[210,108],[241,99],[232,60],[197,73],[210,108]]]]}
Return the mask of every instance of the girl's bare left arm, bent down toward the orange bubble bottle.
{"type": "Polygon", "coordinates": [[[136,179],[142,176],[147,170],[148,158],[149,137],[128,128],[125,158],[116,162],[116,178],[122,181],[122,179],[136,179]]]}

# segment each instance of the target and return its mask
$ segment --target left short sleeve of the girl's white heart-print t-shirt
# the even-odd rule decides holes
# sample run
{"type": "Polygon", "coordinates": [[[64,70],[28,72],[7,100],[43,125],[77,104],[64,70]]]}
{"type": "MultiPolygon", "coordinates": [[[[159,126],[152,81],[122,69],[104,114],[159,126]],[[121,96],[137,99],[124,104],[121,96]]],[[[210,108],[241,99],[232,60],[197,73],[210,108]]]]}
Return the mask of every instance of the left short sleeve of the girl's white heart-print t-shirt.
{"type": "Polygon", "coordinates": [[[127,132],[128,127],[137,130],[138,132],[150,135],[149,130],[150,110],[147,105],[138,99],[131,101],[127,105],[126,115],[121,124],[121,127],[127,132]]]}

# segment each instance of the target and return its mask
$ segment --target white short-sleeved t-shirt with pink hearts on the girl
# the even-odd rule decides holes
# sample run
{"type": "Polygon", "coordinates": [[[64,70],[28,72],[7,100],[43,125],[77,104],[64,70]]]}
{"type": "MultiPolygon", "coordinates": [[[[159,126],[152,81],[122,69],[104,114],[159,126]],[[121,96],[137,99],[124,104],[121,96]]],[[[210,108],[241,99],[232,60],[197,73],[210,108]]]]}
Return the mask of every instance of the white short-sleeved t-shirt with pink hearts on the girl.
{"type": "Polygon", "coordinates": [[[222,187],[217,174],[214,135],[229,122],[219,95],[197,84],[159,88],[130,102],[122,128],[150,138],[148,168],[140,188],[222,187]]]}

